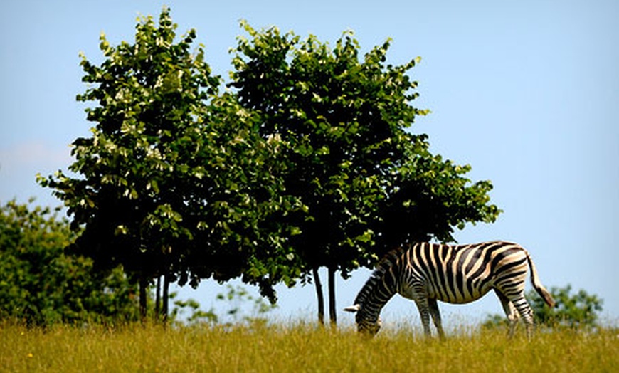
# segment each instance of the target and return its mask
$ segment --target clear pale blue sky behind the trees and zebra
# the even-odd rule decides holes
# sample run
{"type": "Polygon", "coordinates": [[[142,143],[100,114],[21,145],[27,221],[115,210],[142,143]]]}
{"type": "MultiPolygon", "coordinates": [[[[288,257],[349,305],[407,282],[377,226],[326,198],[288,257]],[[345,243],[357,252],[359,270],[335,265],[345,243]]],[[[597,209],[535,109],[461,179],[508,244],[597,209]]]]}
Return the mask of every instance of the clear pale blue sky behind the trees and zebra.
{"type": "MultiPolygon", "coordinates": [[[[433,152],[471,164],[470,178],[492,180],[492,201],[504,210],[495,224],[467,226],[457,240],[517,241],[546,286],[595,293],[605,317],[618,320],[619,1],[5,1],[1,204],[30,196],[60,204],[35,175],[66,169],[68,145],[88,135],[85,105],[75,101],[85,90],[78,53],[102,61],[101,32],[113,44],[132,42],[137,16],[157,18],[164,4],[179,34],[196,28],[208,63],[224,77],[228,49],[243,34],[240,19],[332,43],[351,29],[365,51],[393,38],[389,63],[421,56],[414,105],[432,113],[412,130],[430,135],[433,152]]],[[[359,270],[338,280],[339,309],[368,276],[359,270]]],[[[313,317],[313,286],[279,290],[277,315],[313,317]]],[[[207,282],[181,296],[208,308],[220,291],[207,282]]],[[[494,295],[441,309],[444,318],[501,312],[494,295]]],[[[418,320],[406,300],[385,311],[418,320]]]]}

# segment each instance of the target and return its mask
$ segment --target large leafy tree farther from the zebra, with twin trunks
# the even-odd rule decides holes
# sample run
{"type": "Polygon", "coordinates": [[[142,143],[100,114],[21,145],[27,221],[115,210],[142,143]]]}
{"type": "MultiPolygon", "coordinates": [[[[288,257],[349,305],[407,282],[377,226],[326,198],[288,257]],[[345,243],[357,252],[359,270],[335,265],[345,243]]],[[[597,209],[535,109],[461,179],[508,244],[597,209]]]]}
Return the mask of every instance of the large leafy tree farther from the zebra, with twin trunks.
{"type": "Polygon", "coordinates": [[[86,110],[92,137],[73,142],[80,177],[39,177],[81,232],[75,250],[139,278],[143,316],[160,276],[164,295],[174,280],[243,275],[272,299],[273,283],[295,277],[292,228],[271,219],[300,208],[281,193],[278,141],[255,135],[259,117],[219,93],[203,47],[191,51],[196,32],[177,41],[176,27],[164,8],[158,24],[139,21],[133,44],[102,35],[101,65],[82,56],[88,89],[77,99],[97,106],[86,110]]]}

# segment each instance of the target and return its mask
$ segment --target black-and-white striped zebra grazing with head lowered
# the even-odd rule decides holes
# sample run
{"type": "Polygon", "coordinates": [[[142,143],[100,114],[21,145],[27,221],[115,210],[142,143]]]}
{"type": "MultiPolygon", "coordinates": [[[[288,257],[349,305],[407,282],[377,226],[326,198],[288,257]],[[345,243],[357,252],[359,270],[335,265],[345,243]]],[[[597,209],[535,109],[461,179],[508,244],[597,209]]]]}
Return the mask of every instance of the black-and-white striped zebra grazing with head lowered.
{"type": "Polygon", "coordinates": [[[396,248],[376,266],[354,305],[344,310],[356,312],[359,332],[374,336],[381,327],[381,309],[398,293],[415,301],[426,337],[430,336],[431,316],[440,339],[444,339],[437,301],[470,303],[492,289],[509,320],[509,336],[514,335],[520,316],[530,337],[533,312],[524,298],[527,266],[534,289],[549,307],[554,307],[529,253],[517,243],[492,241],[457,246],[416,243],[396,248]]]}

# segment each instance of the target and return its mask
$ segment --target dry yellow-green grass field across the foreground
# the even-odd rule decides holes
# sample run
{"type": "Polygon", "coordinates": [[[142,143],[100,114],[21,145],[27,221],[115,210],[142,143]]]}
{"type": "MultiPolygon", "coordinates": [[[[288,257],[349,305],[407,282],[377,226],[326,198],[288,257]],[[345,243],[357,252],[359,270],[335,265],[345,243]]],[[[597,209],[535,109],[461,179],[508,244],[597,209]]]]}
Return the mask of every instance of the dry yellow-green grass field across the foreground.
{"type": "Polygon", "coordinates": [[[527,341],[477,330],[440,342],[410,329],[364,340],[303,323],[169,330],[0,323],[0,372],[617,372],[618,333],[560,330],[527,341]]]}

